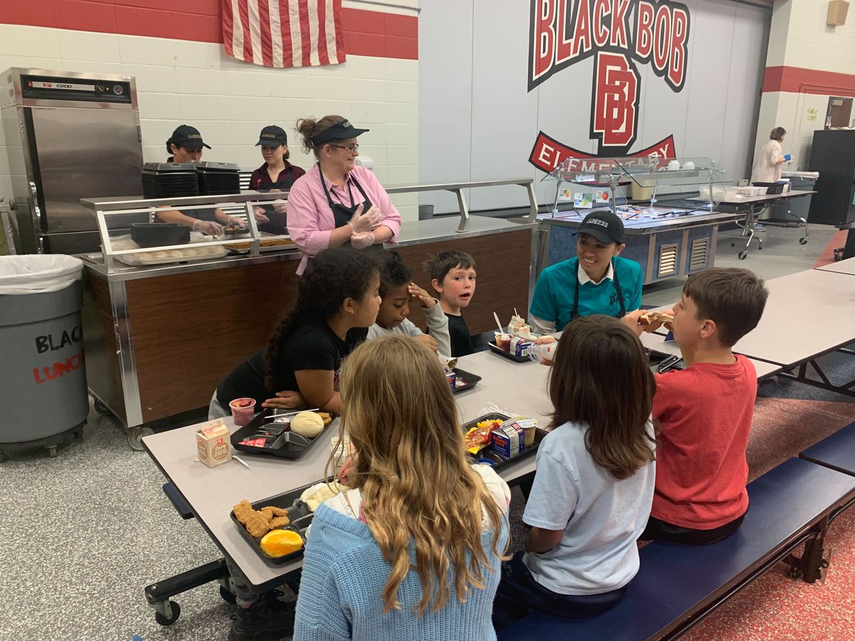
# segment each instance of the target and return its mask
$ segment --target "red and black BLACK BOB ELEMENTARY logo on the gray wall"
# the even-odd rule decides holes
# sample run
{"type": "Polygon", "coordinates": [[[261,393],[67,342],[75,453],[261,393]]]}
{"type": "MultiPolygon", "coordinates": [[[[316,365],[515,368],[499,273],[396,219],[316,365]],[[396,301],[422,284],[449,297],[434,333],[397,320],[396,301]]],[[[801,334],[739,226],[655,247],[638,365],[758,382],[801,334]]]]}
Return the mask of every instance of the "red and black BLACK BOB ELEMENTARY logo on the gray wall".
{"type": "MultiPolygon", "coordinates": [[[[675,93],[686,84],[687,6],[671,0],[531,0],[530,18],[528,91],[562,69],[593,57],[589,136],[598,141],[596,156],[631,155],[641,95],[637,65],[650,64],[653,73],[675,93]]],[[[563,160],[560,154],[543,149],[548,140],[553,149],[572,150],[540,132],[529,162],[544,171],[563,160]]],[[[663,150],[651,150],[662,147],[669,151],[667,157],[674,157],[673,143],[669,136],[632,155],[661,156],[663,150]]]]}

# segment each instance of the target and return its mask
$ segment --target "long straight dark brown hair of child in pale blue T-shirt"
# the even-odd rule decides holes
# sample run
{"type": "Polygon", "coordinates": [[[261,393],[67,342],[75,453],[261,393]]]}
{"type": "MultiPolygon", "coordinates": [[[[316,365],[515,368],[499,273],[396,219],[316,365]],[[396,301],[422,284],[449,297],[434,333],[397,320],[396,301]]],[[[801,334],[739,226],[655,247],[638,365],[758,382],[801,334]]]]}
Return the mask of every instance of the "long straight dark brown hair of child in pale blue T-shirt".
{"type": "Polygon", "coordinates": [[[555,352],[549,396],[551,427],[587,425],[585,447],[616,479],[627,479],[654,458],[647,422],[656,381],[637,336],[604,315],[569,323],[555,352]]]}

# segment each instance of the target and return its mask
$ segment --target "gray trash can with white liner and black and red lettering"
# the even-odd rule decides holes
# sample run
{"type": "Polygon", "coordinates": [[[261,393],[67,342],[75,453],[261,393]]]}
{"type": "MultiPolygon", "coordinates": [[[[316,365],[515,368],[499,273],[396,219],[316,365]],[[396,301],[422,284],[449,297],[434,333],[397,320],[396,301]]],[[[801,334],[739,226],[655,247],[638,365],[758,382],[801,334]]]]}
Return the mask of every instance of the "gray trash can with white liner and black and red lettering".
{"type": "Polygon", "coordinates": [[[0,256],[0,460],[4,444],[56,456],[85,424],[82,269],[73,256],[0,256]]]}

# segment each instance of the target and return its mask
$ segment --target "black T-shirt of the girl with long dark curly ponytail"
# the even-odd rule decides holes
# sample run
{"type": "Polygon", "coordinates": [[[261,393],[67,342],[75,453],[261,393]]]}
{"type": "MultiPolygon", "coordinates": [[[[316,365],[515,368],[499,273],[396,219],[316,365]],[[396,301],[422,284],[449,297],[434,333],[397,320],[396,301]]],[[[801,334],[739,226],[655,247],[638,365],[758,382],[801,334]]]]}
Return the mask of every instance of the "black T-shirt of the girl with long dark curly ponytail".
{"type": "Polygon", "coordinates": [[[364,327],[354,327],[347,332],[346,340],[339,338],[327,323],[307,323],[298,327],[280,346],[274,367],[274,389],[264,385],[267,347],[240,363],[216,388],[217,402],[227,408],[235,398],[255,398],[257,409],[277,391],[297,390],[294,372],[303,369],[327,369],[335,372],[335,387],[339,388],[341,362],[353,348],[365,339],[364,327]]]}

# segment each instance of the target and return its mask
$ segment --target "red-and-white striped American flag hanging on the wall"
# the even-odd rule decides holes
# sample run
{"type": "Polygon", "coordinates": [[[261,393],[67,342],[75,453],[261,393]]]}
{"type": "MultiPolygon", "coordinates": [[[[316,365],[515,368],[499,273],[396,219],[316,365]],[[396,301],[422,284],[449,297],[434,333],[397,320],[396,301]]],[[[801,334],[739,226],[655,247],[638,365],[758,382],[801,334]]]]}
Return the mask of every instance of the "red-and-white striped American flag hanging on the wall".
{"type": "Polygon", "coordinates": [[[264,67],[345,62],[341,0],[222,0],[222,41],[264,67]]]}

